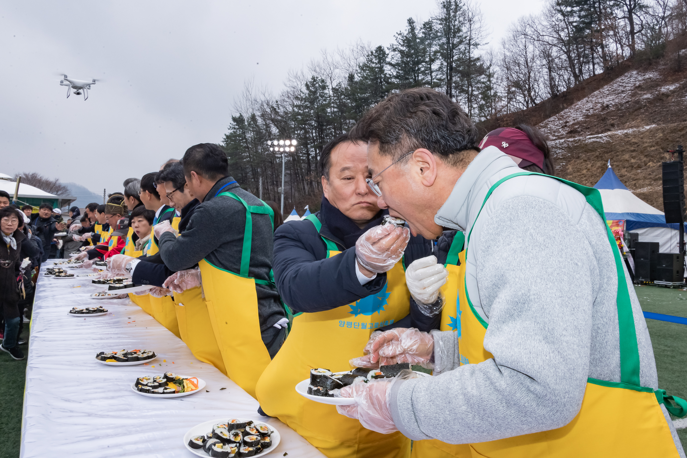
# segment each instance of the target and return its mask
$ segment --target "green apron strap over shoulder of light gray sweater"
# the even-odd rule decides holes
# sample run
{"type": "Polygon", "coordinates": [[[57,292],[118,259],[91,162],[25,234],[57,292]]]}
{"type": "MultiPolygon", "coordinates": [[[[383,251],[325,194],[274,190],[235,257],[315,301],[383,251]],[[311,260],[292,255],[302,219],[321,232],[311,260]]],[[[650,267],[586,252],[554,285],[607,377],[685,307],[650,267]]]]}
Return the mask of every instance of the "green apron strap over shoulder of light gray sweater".
{"type": "MultiPolygon", "coordinates": [[[[606,224],[606,216],[604,214],[603,210],[603,203],[601,201],[601,194],[598,192],[597,189],[594,187],[587,187],[583,185],[578,185],[578,183],[573,183],[572,181],[567,181],[561,178],[558,178],[557,176],[550,176],[550,175],[545,175],[537,172],[517,172],[512,175],[508,175],[505,178],[500,179],[493,185],[489,191],[486,193],[486,197],[484,197],[484,202],[482,202],[482,207],[480,207],[480,211],[477,213],[477,217],[480,216],[480,213],[482,212],[482,208],[484,208],[484,205],[486,204],[487,199],[489,196],[491,196],[491,193],[494,192],[494,190],[504,181],[509,180],[511,178],[514,178],[515,176],[523,176],[523,175],[541,175],[541,176],[546,176],[548,178],[552,178],[558,181],[561,181],[561,183],[565,183],[566,185],[569,185],[570,187],[574,188],[575,190],[581,192],[583,196],[585,196],[585,199],[587,200],[587,203],[596,210],[596,213],[601,217],[601,220],[604,223],[604,226],[606,227],[606,233],[608,240],[611,244],[611,251],[613,252],[613,258],[616,262],[616,273],[618,275],[618,290],[617,290],[617,295],[616,295],[616,307],[618,309],[618,328],[620,328],[620,381],[623,383],[627,383],[629,385],[635,385],[635,386],[640,386],[640,354],[639,354],[639,347],[637,344],[637,332],[635,330],[635,321],[634,317],[632,314],[632,304],[630,301],[630,294],[629,290],[627,289],[627,281],[625,280],[625,273],[623,269],[623,264],[622,261],[620,260],[620,251],[618,251],[617,247],[618,245],[616,244],[615,238],[613,237],[613,233],[611,233],[611,229],[608,227],[606,224]],[[615,249],[613,247],[616,247],[615,249]]],[[[475,217],[475,221],[477,220],[477,217],[475,217]]],[[[471,227],[469,233],[468,233],[468,238],[467,238],[467,243],[469,244],[470,242],[470,235],[472,233],[472,230],[474,228],[471,227]]],[[[467,248],[466,248],[467,249],[467,248]]],[[[466,294],[467,294],[467,288],[466,288],[466,294]]],[[[470,302],[470,299],[468,297],[468,301],[470,302]]],[[[471,304],[472,307],[472,304],[471,304]]],[[[479,315],[477,315],[479,317],[479,315]]]]}

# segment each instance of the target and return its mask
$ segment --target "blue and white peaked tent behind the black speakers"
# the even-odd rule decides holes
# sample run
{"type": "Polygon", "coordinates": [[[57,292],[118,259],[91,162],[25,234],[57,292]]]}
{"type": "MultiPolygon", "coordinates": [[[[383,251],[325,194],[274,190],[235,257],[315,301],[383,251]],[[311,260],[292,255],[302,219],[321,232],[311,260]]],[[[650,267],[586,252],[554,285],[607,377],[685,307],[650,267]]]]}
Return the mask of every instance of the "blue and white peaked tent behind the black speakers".
{"type": "Polygon", "coordinates": [[[632,194],[611,168],[594,185],[601,194],[607,220],[625,220],[625,230],[640,235],[640,242],[659,242],[662,253],[677,253],[679,225],[666,224],[659,209],[632,194]]]}

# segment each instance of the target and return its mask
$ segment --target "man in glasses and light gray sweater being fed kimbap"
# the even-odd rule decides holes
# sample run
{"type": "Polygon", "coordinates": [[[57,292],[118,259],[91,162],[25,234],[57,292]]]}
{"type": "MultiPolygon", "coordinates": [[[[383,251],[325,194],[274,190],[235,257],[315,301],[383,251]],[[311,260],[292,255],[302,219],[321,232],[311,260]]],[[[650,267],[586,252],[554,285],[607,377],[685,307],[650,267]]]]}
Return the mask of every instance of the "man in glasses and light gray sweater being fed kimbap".
{"type": "Polygon", "coordinates": [[[480,152],[473,122],[432,89],[390,95],[351,137],[368,141],[380,208],[425,238],[464,233],[464,271],[458,332],[368,342],[371,364],[423,363],[434,376],[354,383],[341,396],[357,402],[339,413],[401,431],[414,454],[433,439],[423,456],[684,457],[668,411],[687,403],[658,389],[598,191],[480,152]]]}

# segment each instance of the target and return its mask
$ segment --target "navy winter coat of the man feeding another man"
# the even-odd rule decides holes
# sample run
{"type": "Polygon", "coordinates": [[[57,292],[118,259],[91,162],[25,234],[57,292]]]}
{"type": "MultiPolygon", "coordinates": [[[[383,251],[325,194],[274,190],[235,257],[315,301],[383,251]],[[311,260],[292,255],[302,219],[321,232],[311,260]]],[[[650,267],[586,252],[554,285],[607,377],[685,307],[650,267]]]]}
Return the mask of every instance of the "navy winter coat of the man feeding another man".
{"type": "MultiPolygon", "coordinates": [[[[355,242],[367,229],[381,224],[385,214],[388,214],[387,210],[380,211],[368,226],[357,231],[356,237],[350,238],[342,233],[341,227],[354,227],[351,226],[352,221],[323,197],[322,210],[315,214],[322,222],[320,233],[308,220],[290,221],[275,231],[274,280],[282,300],[293,312],[322,312],[379,293],[386,284],[387,275],[380,273],[371,282],[360,284],[355,270],[355,242]],[[335,233],[342,237],[335,236],[335,233]],[[341,253],[327,258],[326,245],[320,236],[335,242],[341,253]]],[[[422,236],[411,236],[405,249],[405,266],[431,255],[431,252],[432,243],[429,240],[422,236]]],[[[411,297],[410,314],[381,329],[418,328],[429,332],[438,329],[440,321],[440,314],[427,317],[420,312],[411,297]]]]}

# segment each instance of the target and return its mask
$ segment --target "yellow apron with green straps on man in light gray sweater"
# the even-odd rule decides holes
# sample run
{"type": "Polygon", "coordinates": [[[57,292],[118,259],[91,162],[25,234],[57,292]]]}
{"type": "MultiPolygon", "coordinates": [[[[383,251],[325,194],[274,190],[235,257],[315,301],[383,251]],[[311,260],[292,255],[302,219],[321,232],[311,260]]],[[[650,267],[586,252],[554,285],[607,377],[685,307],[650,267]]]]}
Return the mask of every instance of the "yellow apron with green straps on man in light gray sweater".
{"type": "MultiPolygon", "coordinates": [[[[493,190],[507,179],[532,174],[535,173],[519,172],[497,181],[486,194],[484,203],[493,190]]],[[[550,178],[557,179],[581,192],[589,205],[596,209],[605,222],[598,190],[556,177],[550,176],[550,178]]],[[[613,247],[615,239],[608,226],[605,226],[609,242],[613,247]]],[[[470,234],[467,238],[467,247],[469,247],[469,242],[470,234]]],[[[687,402],[680,398],[666,396],[664,390],[654,391],[640,385],[640,356],[627,282],[625,282],[620,252],[613,249],[613,256],[618,273],[617,304],[621,381],[609,382],[587,378],[587,389],[582,407],[572,422],[562,428],[541,433],[469,444],[473,457],[677,458],[679,456],[660,404],[665,404],[666,409],[673,415],[684,416],[687,413],[687,402]],[[678,404],[677,407],[666,400],[673,400],[678,404]]],[[[481,363],[488,358],[493,358],[484,350],[483,345],[487,323],[475,311],[464,282],[460,288],[464,290],[466,297],[466,304],[460,304],[462,308],[462,330],[459,343],[461,365],[481,363]]]]}

